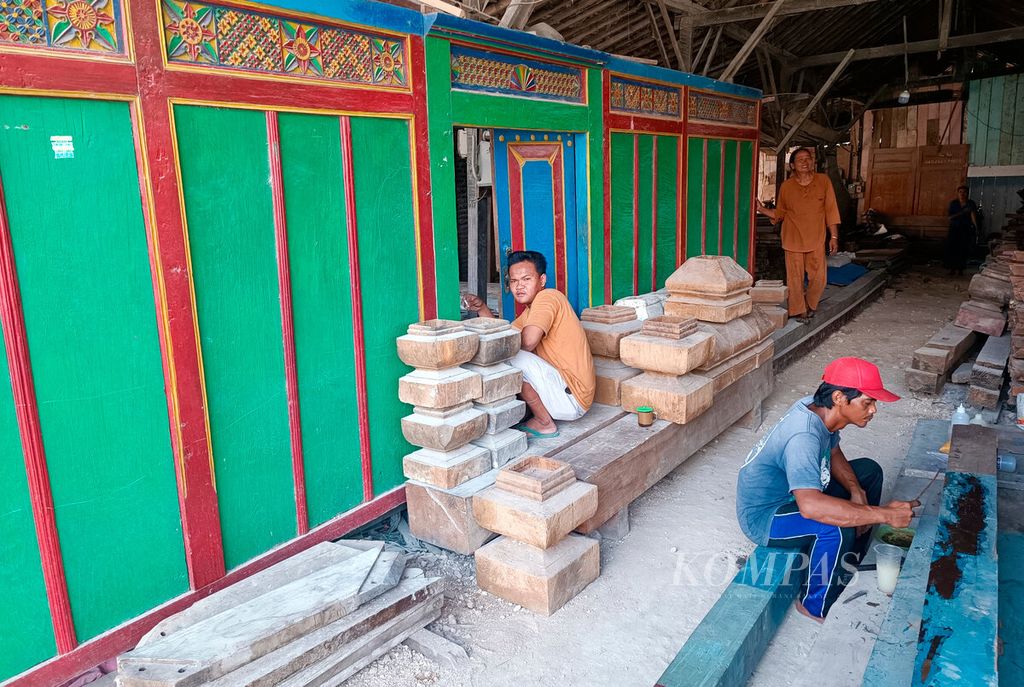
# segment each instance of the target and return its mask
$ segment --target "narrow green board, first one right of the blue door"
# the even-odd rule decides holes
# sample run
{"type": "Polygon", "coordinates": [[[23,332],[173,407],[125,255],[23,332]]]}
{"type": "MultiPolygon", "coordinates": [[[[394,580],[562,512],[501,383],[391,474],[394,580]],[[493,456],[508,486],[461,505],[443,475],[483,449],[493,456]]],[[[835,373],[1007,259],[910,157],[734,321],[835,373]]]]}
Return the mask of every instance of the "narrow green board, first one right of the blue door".
{"type": "Polygon", "coordinates": [[[611,134],[612,300],[633,295],[633,134],[611,134]]]}

